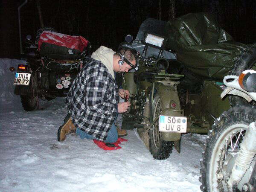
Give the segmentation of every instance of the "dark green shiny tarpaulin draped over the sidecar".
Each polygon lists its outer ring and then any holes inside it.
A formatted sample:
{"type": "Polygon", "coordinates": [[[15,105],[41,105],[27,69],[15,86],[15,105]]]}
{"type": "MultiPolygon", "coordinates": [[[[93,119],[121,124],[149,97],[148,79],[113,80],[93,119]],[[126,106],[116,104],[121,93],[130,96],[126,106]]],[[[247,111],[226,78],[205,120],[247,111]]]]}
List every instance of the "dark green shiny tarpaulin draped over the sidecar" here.
{"type": "Polygon", "coordinates": [[[167,22],[168,44],[192,73],[222,81],[235,59],[247,48],[224,31],[213,15],[190,13],[167,22]]]}

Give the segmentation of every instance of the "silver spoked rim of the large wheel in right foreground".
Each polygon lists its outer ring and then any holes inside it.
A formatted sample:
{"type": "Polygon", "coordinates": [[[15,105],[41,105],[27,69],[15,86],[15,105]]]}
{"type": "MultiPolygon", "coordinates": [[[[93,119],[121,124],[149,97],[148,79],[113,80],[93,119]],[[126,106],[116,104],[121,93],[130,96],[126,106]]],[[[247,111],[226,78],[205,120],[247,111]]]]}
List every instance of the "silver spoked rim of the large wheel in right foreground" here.
{"type": "MultiPolygon", "coordinates": [[[[212,151],[209,165],[209,186],[210,191],[228,191],[226,182],[233,169],[236,156],[240,150],[240,144],[248,125],[236,124],[228,127],[218,138],[212,151]]],[[[255,157],[249,169],[255,165],[255,157]]],[[[241,190],[243,183],[248,182],[250,171],[244,174],[238,184],[241,190]]]]}

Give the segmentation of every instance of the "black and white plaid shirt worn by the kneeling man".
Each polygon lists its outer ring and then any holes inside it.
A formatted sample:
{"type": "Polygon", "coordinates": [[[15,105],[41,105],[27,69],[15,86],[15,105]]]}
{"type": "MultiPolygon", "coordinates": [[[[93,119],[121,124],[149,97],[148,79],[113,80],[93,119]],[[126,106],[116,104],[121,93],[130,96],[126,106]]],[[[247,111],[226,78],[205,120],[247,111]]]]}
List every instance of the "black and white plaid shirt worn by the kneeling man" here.
{"type": "Polygon", "coordinates": [[[118,112],[118,87],[104,64],[88,62],[73,81],[66,102],[76,128],[106,140],[118,112]]]}

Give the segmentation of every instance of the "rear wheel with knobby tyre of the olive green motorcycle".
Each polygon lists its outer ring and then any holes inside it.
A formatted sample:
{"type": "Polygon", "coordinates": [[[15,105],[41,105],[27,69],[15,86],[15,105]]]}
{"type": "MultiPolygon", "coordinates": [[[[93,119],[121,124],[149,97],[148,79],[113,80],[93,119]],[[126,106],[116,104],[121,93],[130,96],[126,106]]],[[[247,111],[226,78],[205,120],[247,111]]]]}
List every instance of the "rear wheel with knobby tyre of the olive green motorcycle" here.
{"type": "MultiPolygon", "coordinates": [[[[153,119],[160,115],[161,109],[161,99],[157,94],[154,97],[154,108],[153,108],[153,119]]],[[[161,137],[161,132],[158,131],[159,121],[156,121],[153,125],[153,130],[149,131],[150,145],[149,150],[153,157],[157,160],[165,160],[172,153],[172,147],[174,143],[172,141],[164,141],[161,137]]]]}

